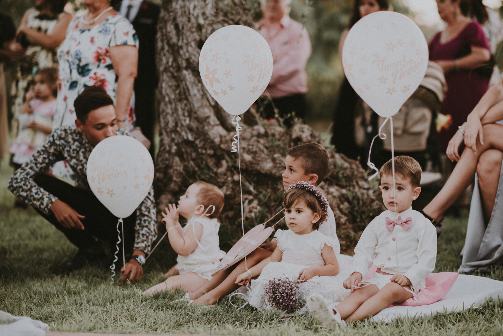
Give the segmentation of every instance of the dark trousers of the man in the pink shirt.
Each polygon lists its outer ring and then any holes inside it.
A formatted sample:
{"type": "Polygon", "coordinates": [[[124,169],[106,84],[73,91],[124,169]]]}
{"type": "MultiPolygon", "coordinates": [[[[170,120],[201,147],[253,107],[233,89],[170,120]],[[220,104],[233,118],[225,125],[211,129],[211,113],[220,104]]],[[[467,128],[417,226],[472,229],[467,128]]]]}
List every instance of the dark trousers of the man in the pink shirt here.
{"type": "Polygon", "coordinates": [[[307,109],[304,94],[295,94],[281,98],[273,98],[264,103],[262,117],[272,119],[276,117],[274,109],[278,110],[278,116],[283,119],[283,124],[292,126],[294,118],[304,119],[307,109]]]}

